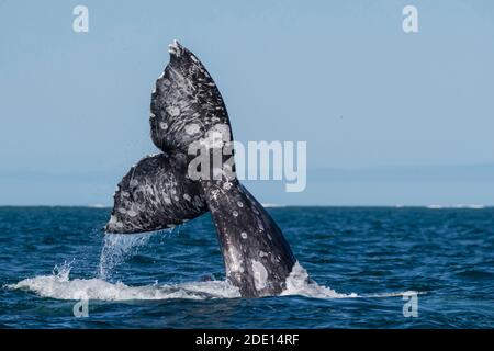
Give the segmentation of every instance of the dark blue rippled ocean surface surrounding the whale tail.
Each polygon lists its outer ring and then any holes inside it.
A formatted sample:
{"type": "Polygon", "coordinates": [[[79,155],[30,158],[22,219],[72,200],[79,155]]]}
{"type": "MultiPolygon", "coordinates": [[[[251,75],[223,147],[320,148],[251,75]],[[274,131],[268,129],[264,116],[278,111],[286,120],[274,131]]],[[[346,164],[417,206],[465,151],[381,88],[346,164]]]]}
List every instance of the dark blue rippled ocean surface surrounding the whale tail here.
{"type": "Polygon", "coordinates": [[[244,299],[209,214],[104,236],[109,208],[0,207],[0,327],[494,327],[494,208],[268,210],[300,265],[244,299]]]}

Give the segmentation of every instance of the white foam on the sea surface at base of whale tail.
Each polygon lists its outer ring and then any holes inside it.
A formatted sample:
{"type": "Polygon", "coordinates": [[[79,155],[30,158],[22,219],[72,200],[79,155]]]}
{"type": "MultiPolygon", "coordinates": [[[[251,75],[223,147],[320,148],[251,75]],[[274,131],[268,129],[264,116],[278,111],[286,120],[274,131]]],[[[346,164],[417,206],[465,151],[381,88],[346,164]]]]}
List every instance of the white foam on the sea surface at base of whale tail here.
{"type": "MultiPolygon", "coordinates": [[[[33,292],[41,297],[56,299],[97,299],[97,301],[154,301],[154,299],[212,299],[239,298],[236,286],[227,281],[189,282],[181,284],[150,284],[128,286],[122,282],[111,283],[100,278],[70,280],[70,264],[55,267],[50,275],[40,275],[5,285],[10,290],[33,292]]],[[[295,263],[289,278],[287,288],[281,296],[305,296],[311,298],[358,298],[393,297],[419,292],[393,292],[372,295],[356,293],[343,294],[319,285],[308,278],[307,271],[295,263]]]]}

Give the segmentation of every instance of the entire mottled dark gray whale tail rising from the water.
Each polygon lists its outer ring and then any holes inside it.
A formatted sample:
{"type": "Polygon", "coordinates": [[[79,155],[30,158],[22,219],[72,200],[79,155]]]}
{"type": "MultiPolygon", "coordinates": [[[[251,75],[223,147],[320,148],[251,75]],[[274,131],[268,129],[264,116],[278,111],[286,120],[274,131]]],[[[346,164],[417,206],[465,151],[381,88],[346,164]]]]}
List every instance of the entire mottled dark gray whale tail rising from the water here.
{"type": "Polygon", "coordinates": [[[222,152],[233,141],[225,104],[201,61],[177,42],[153,92],[150,127],[154,144],[165,154],[145,158],[124,177],[106,231],[162,229],[211,211],[226,276],[242,296],[281,293],[295,258],[268,212],[235,173],[224,171],[235,170],[222,152]],[[212,133],[220,133],[220,144],[210,143],[212,133]],[[211,169],[209,177],[190,179],[194,145],[220,155],[220,172],[211,169]]]}

